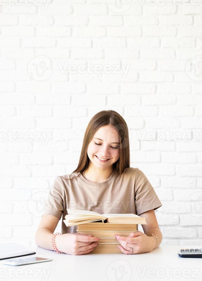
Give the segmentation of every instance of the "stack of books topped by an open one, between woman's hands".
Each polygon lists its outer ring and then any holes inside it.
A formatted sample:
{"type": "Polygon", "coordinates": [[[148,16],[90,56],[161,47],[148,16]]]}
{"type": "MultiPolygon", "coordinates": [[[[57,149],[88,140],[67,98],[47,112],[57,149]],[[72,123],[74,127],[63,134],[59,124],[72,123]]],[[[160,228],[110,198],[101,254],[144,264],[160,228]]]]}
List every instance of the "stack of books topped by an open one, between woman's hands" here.
{"type": "Polygon", "coordinates": [[[122,253],[115,234],[127,237],[137,231],[138,224],[146,224],[146,219],[136,214],[99,214],[87,210],[67,209],[65,225],[77,225],[77,233],[99,237],[99,243],[91,253],[122,253]]]}

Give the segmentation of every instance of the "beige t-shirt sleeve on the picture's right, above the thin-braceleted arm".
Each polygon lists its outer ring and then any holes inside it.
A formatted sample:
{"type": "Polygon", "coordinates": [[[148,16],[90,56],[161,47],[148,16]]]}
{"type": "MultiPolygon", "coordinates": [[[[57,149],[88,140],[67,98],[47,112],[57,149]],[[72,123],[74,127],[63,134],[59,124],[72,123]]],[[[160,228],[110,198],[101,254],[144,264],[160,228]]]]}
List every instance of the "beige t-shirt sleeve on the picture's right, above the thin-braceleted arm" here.
{"type": "Polygon", "coordinates": [[[134,192],[137,215],[162,206],[154,188],[140,169],[136,169],[134,192]]]}

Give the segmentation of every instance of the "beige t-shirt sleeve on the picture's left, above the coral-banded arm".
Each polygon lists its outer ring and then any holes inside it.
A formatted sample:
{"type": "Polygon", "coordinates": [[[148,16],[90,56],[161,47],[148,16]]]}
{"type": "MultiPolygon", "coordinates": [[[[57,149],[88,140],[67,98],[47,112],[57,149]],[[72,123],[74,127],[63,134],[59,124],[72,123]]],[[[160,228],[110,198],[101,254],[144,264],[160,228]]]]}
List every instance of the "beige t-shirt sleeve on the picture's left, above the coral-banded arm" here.
{"type": "Polygon", "coordinates": [[[64,211],[64,189],[60,177],[56,177],[54,183],[49,189],[48,197],[43,214],[48,214],[61,218],[64,211]]]}

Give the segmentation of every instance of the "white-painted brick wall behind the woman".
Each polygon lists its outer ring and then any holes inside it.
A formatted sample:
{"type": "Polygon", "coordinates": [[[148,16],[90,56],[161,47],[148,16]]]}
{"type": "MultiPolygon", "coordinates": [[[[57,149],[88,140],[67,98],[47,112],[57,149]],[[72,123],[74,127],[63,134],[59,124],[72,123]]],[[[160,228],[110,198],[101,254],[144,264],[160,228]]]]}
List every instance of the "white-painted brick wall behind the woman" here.
{"type": "Polygon", "coordinates": [[[35,245],[54,178],[77,167],[91,117],[113,109],[162,201],[162,243],[201,244],[202,8],[106,2],[0,7],[0,242],[35,245]]]}

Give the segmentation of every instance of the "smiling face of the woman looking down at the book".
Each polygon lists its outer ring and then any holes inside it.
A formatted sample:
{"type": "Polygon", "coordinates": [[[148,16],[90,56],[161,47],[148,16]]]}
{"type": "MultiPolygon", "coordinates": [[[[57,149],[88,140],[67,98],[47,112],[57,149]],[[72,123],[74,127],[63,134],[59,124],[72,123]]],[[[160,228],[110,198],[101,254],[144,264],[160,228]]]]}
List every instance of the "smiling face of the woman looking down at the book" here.
{"type": "Polygon", "coordinates": [[[120,156],[119,134],[117,130],[110,125],[100,127],[89,143],[87,154],[90,161],[97,168],[109,169],[120,156]],[[99,160],[98,157],[108,160],[99,160]]]}

